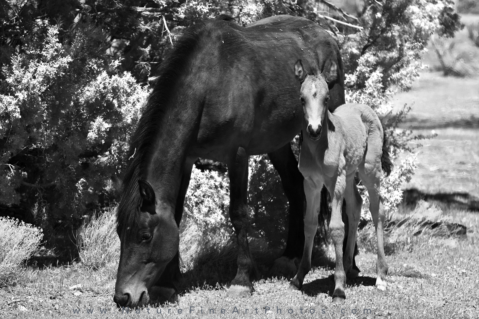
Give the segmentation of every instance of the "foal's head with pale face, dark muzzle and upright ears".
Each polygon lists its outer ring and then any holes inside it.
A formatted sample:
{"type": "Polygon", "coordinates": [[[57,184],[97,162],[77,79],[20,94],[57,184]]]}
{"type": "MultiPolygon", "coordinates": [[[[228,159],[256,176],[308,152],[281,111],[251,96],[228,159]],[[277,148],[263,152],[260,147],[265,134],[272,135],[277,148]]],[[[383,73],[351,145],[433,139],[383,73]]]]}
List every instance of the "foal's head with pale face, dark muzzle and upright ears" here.
{"type": "MultiPolygon", "coordinates": [[[[337,66],[328,61],[320,74],[309,73],[303,67],[301,60],[295,65],[296,77],[301,81],[301,103],[303,104],[308,136],[317,141],[321,136],[322,122],[328,110],[328,82],[336,79],[337,66]]],[[[319,73],[319,72],[317,72],[319,73]]]]}

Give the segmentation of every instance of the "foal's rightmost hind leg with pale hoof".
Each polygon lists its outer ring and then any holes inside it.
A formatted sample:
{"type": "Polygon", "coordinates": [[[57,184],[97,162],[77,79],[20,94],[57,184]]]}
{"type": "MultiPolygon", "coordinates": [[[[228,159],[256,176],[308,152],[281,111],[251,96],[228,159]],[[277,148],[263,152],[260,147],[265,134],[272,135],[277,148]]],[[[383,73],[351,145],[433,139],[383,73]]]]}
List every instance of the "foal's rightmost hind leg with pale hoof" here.
{"type": "Polygon", "coordinates": [[[381,196],[379,195],[381,165],[359,166],[359,177],[363,181],[369,194],[369,211],[376,228],[377,262],[376,262],[376,287],[385,290],[387,287],[388,263],[384,253],[384,219],[385,212],[381,196]],[[373,168],[374,167],[374,168],[373,168]]]}

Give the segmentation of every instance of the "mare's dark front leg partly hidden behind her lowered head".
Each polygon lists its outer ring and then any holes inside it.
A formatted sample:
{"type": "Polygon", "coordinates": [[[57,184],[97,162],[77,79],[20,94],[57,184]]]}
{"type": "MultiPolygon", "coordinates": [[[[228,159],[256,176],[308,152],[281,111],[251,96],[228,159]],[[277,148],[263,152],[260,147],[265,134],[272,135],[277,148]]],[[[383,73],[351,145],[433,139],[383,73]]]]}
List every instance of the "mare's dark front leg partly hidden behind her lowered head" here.
{"type": "MultiPolygon", "coordinates": [[[[186,191],[188,190],[188,185],[190,184],[191,171],[193,169],[193,164],[196,161],[195,158],[187,158],[183,167],[183,173],[180,183],[180,191],[178,197],[176,198],[175,206],[175,221],[178,227],[180,226],[180,221],[183,215],[183,205],[184,198],[186,196],[186,191]]],[[[158,281],[150,289],[151,295],[163,295],[170,302],[177,300],[177,291],[176,282],[180,279],[180,252],[177,252],[173,257],[170,263],[165,267],[165,270],[161,274],[158,281]]]]}

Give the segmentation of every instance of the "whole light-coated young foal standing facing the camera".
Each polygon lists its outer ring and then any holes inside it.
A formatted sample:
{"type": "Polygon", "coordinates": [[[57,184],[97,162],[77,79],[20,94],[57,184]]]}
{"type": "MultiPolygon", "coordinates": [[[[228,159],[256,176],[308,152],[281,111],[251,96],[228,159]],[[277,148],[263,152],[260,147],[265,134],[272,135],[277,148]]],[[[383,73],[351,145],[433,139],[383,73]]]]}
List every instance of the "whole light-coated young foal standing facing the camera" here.
{"type": "Polygon", "coordinates": [[[352,262],[362,199],[354,182],[356,170],[359,171],[359,177],[369,193],[369,210],[376,228],[376,286],[381,290],[386,289],[388,264],[383,246],[384,208],[379,196],[379,181],[382,174],[381,160],[386,167],[385,171],[390,172],[391,163],[388,154],[383,156],[383,128],[374,110],[364,104],[350,103],[331,113],[327,106],[328,70],[325,68],[320,75],[307,74],[300,60],[297,61],[295,69],[302,82],[301,101],[305,112],[303,132],[308,132],[305,134],[299,156],[299,171],[304,176],[307,209],[303,258],[291,286],[300,289],[305,275],[311,269],[311,250],[318,227],[320,190],[324,184],[332,198],[330,231],[336,251],[335,288],[332,297],[334,303],[342,303],[346,298],[346,274],[357,275],[352,272],[352,262]],[[341,218],[343,198],[346,201],[349,221],[344,258],[344,223],[341,218]]]}

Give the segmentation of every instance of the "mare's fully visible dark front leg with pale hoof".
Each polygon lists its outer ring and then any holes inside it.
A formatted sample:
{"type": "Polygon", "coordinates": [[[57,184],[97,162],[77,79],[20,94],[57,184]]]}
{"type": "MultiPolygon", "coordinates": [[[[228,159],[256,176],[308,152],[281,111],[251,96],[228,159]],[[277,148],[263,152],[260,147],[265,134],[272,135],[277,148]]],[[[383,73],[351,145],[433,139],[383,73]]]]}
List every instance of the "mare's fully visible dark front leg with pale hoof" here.
{"type": "Polygon", "coordinates": [[[229,218],[233,224],[238,243],[238,271],[228,290],[230,297],[246,297],[254,291],[251,276],[256,276],[256,268],[248,247],[247,230],[250,227],[248,216],[248,156],[244,148],[238,151],[227,163],[229,175],[229,218]]]}

